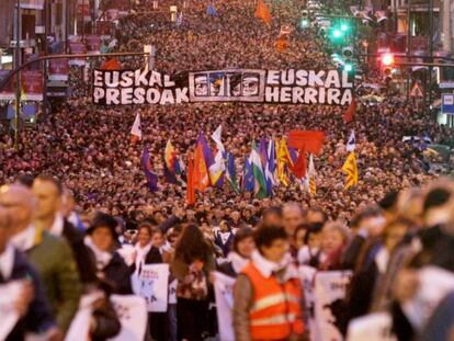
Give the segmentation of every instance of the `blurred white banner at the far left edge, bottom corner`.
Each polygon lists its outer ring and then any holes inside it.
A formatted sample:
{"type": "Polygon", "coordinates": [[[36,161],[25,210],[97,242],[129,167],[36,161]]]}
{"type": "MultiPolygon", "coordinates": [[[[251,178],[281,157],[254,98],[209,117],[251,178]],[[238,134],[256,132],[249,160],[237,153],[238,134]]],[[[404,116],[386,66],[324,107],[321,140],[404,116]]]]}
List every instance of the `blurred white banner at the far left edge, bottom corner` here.
{"type": "Polygon", "coordinates": [[[15,302],[22,293],[20,281],[0,285],[0,340],[7,339],[19,320],[15,302]]]}

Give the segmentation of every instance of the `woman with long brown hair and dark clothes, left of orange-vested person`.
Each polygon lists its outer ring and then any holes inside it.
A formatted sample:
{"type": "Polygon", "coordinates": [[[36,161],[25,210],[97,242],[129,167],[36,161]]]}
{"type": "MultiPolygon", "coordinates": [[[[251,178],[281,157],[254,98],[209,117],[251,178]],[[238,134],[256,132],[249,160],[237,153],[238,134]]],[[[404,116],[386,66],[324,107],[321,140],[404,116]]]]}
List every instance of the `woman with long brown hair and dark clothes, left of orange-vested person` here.
{"type": "Polygon", "coordinates": [[[203,340],[208,310],[208,275],[215,269],[213,248],[198,226],[188,224],[175,246],[171,270],[177,277],[178,340],[203,340]]]}

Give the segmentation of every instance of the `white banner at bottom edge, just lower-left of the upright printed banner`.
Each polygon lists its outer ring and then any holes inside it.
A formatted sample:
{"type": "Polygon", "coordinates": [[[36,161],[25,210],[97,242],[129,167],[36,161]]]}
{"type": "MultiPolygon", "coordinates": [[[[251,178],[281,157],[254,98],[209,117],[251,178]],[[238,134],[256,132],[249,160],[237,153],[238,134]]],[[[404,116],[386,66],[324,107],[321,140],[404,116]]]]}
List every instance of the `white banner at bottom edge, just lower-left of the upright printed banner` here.
{"type": "Polygon", "coordinates": [[[120,333],[112,341],[141,341],[147,331],[147,304],[143,297],[134,295],[112,295],[111,303],[122,323],[120,333]]]}

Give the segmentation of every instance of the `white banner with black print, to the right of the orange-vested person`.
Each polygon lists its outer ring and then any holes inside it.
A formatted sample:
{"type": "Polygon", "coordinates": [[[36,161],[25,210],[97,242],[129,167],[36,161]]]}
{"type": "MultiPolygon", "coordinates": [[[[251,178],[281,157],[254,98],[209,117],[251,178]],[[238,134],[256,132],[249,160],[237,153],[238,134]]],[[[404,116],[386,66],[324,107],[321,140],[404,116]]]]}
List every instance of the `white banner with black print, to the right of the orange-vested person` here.
{"type": "Polygon", "coordinates": [[[342,333],[337,327],[336,314],[344,314],[342,300],[352,277],[351,271],[322,271],[315,276],[315,329],[313,341],[341,341],[342,333]]]}

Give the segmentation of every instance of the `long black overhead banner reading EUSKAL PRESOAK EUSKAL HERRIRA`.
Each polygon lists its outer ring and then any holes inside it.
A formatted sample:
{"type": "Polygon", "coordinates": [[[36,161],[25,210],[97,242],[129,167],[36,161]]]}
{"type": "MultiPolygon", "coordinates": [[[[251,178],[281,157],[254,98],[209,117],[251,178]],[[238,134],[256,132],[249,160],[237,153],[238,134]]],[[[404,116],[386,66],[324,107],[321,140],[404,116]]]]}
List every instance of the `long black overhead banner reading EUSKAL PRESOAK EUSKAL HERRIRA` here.
{"type": "Polygon", "coordinates": [[[250,102],[347,105],[353,82],[341,70],[211,70],[174,76],[156,70],[94,70],[93,103],[250,102]]]}

